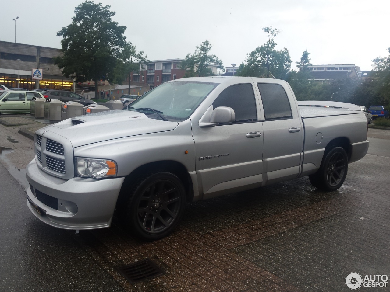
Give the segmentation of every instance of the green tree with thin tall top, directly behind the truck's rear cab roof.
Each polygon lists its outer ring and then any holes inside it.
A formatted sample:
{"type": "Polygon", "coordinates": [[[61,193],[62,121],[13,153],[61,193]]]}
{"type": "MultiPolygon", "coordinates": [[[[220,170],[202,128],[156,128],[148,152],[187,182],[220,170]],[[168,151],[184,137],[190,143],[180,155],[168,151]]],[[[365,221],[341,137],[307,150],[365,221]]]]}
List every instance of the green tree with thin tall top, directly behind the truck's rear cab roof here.
{"type": "Polygon", "coordinates": [[[287,79],[292,62],[289,51],[285,47],[280,51],[275,49],[277,44],[274,39],[280,30],[271,26],[262,30],[267,33],[268,41],[247,54],[246,64],[239,67],[237,75],[287,79]]]}

